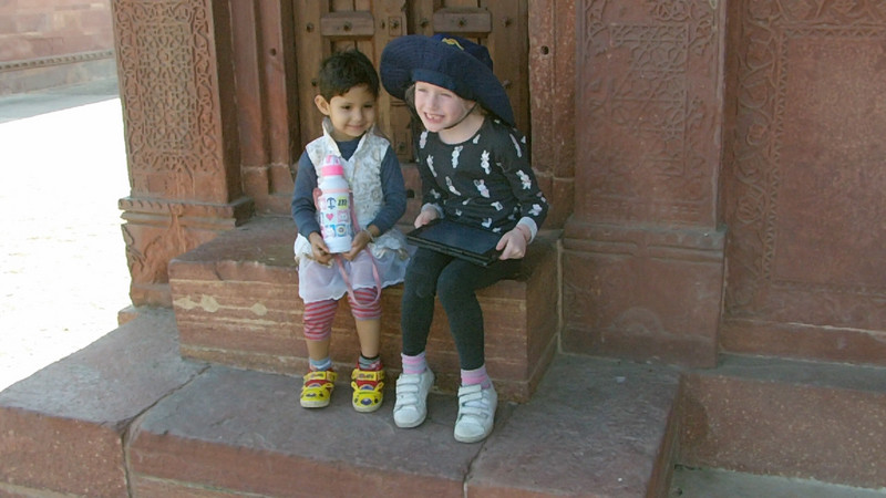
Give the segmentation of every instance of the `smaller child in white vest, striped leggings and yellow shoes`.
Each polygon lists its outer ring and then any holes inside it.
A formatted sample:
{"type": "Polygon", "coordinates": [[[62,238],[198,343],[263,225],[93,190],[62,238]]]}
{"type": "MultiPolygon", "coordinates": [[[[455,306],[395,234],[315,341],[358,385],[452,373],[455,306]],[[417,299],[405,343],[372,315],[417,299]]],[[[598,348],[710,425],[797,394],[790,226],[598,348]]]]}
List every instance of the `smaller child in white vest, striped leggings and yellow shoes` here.
{"type": "Polygon", "coordinates": [[[405,237],[394,228],[405,212],[405,186],[390,143],[374,133],[379,76],[370,60],[357,51],[336,53],[323,61],[318,84],[315,103],[326,116],[323,136],[308,144],[299,158],[292,195],[310,361],[300,404],[329,405],[337,376],[329,356],[332,319],[338,300],[348,293],[360,339],[360,357],[351,374],[352,404],[358,412],[374,412],[384,387],[379,293],[381,287],[403,281],[409,259],[405,237]],[[329,155],[340,157],[359,224],[350,250],[341,255],[331,253],[323,241],[315,206],[313,193],[329,155]]]}

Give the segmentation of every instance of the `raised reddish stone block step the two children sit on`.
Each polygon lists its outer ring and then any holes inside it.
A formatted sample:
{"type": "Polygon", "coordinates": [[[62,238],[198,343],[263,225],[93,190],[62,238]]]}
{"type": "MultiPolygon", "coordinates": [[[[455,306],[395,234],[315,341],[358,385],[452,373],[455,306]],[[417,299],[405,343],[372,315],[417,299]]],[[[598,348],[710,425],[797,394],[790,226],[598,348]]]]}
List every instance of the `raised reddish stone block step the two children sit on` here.
{"type": "MultiPolygon", "coordinates": [[[[301,300],[292,256],[296,228],[289,218],[248,224],[169,263],[169,287],[185,357],[276,373],[307,371],[301,300]]],[[[484,310],[486,365],[505,400],[532,395],[556,349],[558,330],[558,232],[543,231],[516,280],[477,293],[484,310]]],[[[382,361],[400,369],[401,286],[382,293],[382,361]]],[[[357,361],[359,344],[347,300],[333,323],[331,356],[339,370],[357,361]]],[[[457,388],[459,357],[449,322],[437,305],[427,347],[441,365],[441,388],[457,388]]]]}

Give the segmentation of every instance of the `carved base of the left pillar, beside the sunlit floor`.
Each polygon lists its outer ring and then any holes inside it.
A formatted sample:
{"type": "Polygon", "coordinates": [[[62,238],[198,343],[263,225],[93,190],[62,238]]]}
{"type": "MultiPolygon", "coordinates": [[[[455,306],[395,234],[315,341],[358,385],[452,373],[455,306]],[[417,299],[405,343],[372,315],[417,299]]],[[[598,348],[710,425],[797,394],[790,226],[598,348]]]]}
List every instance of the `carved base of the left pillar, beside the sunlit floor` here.
{"type": "Polygon", "coordinates": [[[123,238],[135,307],[172,307],[169,260],[249,219],[255,206],[241,197],[228,204],[195,204],[125,197],[123,238]]]}

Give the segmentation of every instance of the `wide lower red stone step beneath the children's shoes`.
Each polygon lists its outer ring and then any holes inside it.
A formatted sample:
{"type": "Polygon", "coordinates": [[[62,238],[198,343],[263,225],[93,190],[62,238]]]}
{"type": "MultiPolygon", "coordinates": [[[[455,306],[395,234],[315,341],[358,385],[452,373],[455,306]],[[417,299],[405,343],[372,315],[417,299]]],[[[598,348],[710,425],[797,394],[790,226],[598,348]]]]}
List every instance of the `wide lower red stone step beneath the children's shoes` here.
{"type": "MultiPolygon", "coordinates": [[[[453,439],[455,397],[393,425],[339,385],[182,360],[169,310],[143,311],[0,393],[0,494],[44,496],[664,496],[674,369],[557,355],[535,396],[499,404],[485,442],[453,439]]],[[[432,367],[435,365],[432,363],[432,367]]]]}

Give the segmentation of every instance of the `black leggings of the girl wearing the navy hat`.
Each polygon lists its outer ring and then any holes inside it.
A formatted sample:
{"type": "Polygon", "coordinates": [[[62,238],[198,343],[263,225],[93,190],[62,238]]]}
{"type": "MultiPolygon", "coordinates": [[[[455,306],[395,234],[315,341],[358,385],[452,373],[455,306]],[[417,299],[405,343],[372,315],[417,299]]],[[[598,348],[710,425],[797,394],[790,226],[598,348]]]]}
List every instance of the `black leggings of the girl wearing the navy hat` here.
{"type": "Polygon", "coordinates": [[[476,290],[516,277],[519,261],[496,261],[484,268],[430,249],[419,249],[409,263],[403,283],[400,319],[403,354],[415,356],[425,350],[434,317],[434,295],[437,295],[450,321],[461,367],[483,366],[483,310],[476,290]]]}

